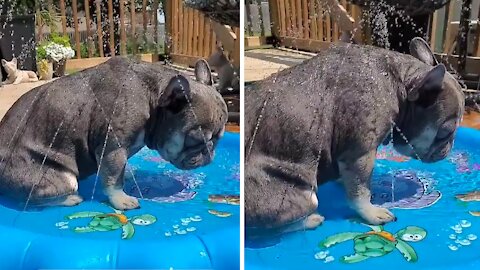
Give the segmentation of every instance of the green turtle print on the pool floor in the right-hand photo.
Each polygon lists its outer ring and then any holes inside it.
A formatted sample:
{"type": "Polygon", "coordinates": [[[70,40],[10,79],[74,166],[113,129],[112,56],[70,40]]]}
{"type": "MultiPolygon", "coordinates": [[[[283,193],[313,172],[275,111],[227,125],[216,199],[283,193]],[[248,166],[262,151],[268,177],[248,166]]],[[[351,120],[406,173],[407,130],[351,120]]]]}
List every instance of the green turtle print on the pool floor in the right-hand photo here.
{"type": "MultiPolygon", "coordinates": [[[[369,225],[367,225],[369,226],[369,225]]],[[[408,226],[395,234],[383,230],[383,226],[369,226],[369,232],[345,232],[327,237],[319,243],[321,248],[329,248],[338,243],[353,240],[353,255],[343,256],[340,261],[356,263],[368,258],[381,257],[397,249],[407,262],[418,261],[415,250],[408,242],[418,242],[427,236],[425,229],[408,226]]]]}

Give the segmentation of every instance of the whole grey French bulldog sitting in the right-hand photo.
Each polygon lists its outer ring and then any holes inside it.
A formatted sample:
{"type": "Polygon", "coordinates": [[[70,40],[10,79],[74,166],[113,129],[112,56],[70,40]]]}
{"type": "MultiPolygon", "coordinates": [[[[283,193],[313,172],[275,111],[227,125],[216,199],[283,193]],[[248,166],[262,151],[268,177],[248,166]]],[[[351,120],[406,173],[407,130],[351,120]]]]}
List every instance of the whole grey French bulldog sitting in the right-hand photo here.
{"type": "Polygon", "coordinates": [[[247,234],[316,228],[317,187],[330,180],[364,221],[396,220],[370,202],[377,147],[393,136],[401,154],[444,159],[464,111],[459,83],[427,43],[415,38],[410,51],[333,45],[246,89],[247,234]]]}

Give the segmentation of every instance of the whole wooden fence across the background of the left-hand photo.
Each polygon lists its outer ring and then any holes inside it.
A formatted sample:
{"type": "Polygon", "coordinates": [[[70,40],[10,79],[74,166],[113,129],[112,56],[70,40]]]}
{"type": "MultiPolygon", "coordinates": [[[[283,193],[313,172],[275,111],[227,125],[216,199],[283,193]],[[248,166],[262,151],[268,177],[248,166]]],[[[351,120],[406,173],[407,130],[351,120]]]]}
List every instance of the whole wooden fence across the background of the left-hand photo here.
{"type": "MultiPolygon", "coordinates": [[[[52,32],[70,36],[77,59],[165,53],[177,64],[192,66],[214,52],[219,39],[215,27],[182,0],[39,0],[36,31],[37,41],[52,32]]],[[[229,51],[236,66],[239,34],[233,29],[233,44],[232,38],[220,38],[224,47],[236,49],[229,51]]]]}

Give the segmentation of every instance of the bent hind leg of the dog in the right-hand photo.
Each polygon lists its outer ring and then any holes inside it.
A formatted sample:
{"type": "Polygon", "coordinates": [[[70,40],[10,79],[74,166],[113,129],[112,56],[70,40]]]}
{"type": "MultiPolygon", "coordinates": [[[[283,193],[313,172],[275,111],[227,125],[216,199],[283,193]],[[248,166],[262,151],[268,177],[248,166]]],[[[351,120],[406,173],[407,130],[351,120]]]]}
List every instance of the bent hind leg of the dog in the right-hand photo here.
{"type": "Polygon", "coordinates": [[[255,164],[246,172],[246,226],[271,228],[277,232],[318,227],[323,217],[316,212],[316,188],[288,182],[287,171],[267,173],[262,165],[255,164]]]}

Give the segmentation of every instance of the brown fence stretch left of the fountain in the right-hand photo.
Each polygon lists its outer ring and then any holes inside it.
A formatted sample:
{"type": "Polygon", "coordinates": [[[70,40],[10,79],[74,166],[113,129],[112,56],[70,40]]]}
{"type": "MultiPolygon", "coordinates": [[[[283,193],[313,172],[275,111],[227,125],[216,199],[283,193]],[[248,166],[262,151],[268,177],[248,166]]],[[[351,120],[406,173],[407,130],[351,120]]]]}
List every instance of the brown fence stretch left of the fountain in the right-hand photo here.
{"type": "MultiPolygon", "coordinates": [[[[252,30],[253,25],[259,24],[258,20],[261,21],[260,35],[267,33],[264,30],[264,20],[267,18],[265,10],[261,8],[264,4],[265,1],[247,3],[247,36],[259,35],[258,31],[252,30]]],[[[340,30],[353,34],[356,41],[362,38],[362,28],[357,23],[360,21],[361,9],[348,4],[346,0],[269,0],[268,4],[268,19],[271,21],[268,32],[281,46],[318,51],[327,48],[331,42],[338,41],[340,30]]]]}

